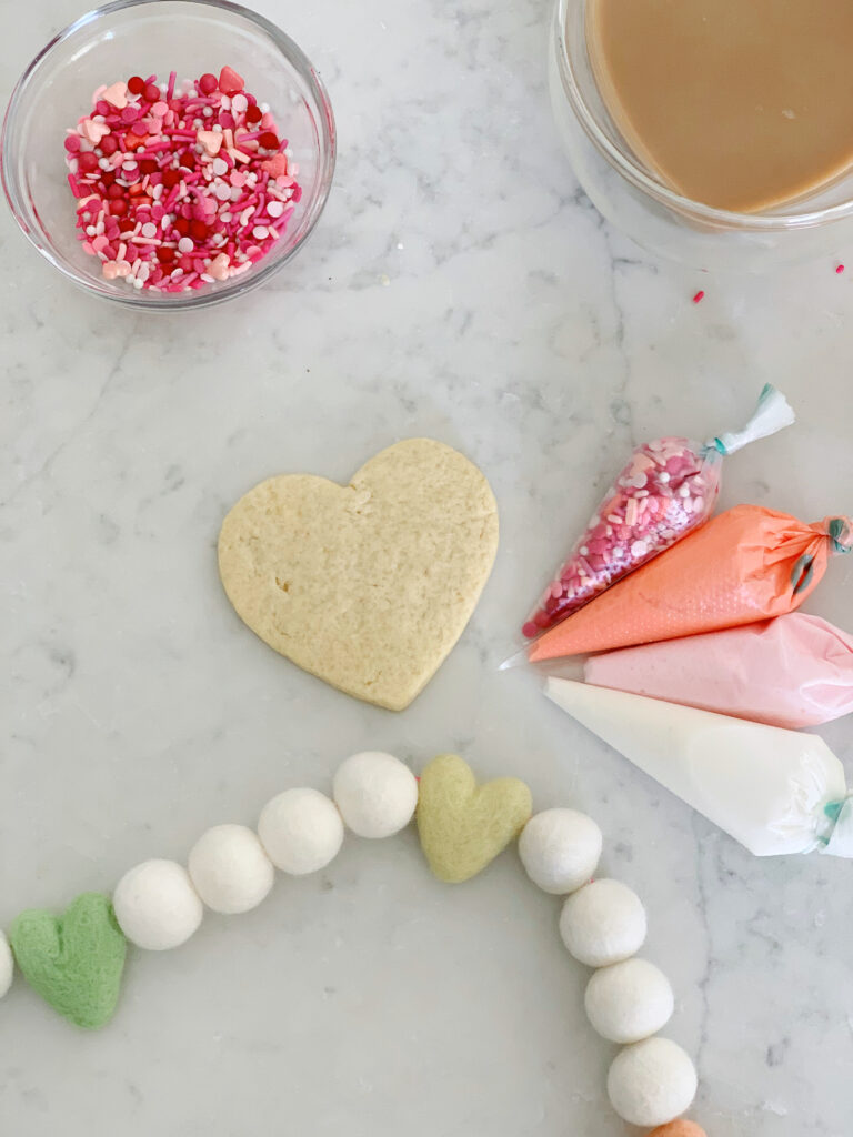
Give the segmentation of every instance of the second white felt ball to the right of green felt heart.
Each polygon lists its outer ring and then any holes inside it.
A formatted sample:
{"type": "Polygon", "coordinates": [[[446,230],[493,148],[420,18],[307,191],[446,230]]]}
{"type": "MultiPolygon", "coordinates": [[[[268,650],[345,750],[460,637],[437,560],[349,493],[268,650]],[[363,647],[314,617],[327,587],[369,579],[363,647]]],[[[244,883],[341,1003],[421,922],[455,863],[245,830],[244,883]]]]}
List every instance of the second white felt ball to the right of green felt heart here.
{"type": "Polygon", "coordinates": [[[214,912],[235,915],[260,904],[275,870],[246,825],[214,825],[196,841],[188,861],[196,891],[214,912]]]}

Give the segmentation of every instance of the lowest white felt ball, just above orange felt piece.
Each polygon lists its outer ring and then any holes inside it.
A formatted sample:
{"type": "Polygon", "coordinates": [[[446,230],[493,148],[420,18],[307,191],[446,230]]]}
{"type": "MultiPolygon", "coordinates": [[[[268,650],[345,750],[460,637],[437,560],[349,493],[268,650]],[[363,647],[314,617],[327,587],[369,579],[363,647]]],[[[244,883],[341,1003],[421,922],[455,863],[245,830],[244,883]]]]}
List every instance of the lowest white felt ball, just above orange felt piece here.
{"type": "Polygon", "coordinates": [[[696,1096],[689,1054],[669,1038],[646,1038],[621,1051],[607,1074],[611,1105],[632,1126],[664,1126],[696,1096]]]}

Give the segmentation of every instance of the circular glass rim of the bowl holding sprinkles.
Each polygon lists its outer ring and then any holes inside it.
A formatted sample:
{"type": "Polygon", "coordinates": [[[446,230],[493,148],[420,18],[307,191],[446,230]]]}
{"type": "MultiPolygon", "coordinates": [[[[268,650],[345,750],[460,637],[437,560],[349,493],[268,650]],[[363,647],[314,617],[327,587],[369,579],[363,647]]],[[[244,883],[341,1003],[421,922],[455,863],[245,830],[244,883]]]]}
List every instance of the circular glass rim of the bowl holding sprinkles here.
{"type": "Polygon", "coordinates": [[[66,27],[57,32],[56,35],[51,36],[44,47],[42,47],[33,56],[20,74],[18,81],[15,83],[3,115],[2,128],[0,128],[0,181],[2,181],[3,192],[13,217],[30,244],[32,244],[33,248],[36,249],[38,252],[40,252],[41,256],[44,257],[44,259],[48,260],[56,269],[58,269],[58,272],[60,272],[66,280],[71,281],[77,288],[83,289],[85,292],[115,304],[125,305],[127,307],[144,309],[147,312],[164,313],[223,304],[226,300],[234,299],[238,296],[243,296],[245,293],[252,291],[275,275],[275,273],[278,273],[297,252],[299,252],[314,232],[329,200],[338,157],[337,128],[329,92],[326,91],[325,84],[317,74],[314,65],[299,44],[276,24],[267,19],[265,16],[262,16],[260,13],[252,11],[250,8],[243,7],[243,5],[234,3],[233,0],[181,0],[181,3],[193,5],[198,8],[212,8],[217,11],[224,11],[230,16],[245,19],[249,24],[259,28],[270,40],[272,40],[281,55],[300,74],[300,77],[310,88],[312,97],[320,111],[320,114],[316,115],[316,127],[320,136],[320,163],[317,179],[318,184],[321,185],[321,191],[314,208],[314,214],[310,217],[305,231],[299,236],[297,243],[287,252],[275,257],[274,259],[270,258],[266,264],[262,260],[258,263],[258,266],[254,272],[232,279],[232,281],[223,287],[210,289],[207,292],[176,292],[148,296],[146,289],[140,289],[139,291],[132,290],[127,293],[123,293],[117,289],[101,287],[100,282],[97,280],[83,276],[73,266],[66,265],[63,258],[55,255],[50,241],[43,240],[40,232],[33,232],[31,227],[25,224],[24,217],[26,214],[26,207],[20,204],[23,197],[20,192],[22,186],[19,185],[17,176],[10,174],[9,163],[7,161],[10,123],[14,121],[19,110],[27,85],[35,72],[42,66],[42,64],[44,64],[51,52],[53,52],[60,44],[65,43],[66,40],[72,39],[89,25],[96,25],[99,20],[103,20],[105,18],[111,17],[117,13],[125,11],[126,9],[144,8],[149,5],[166,5],[167,2],[168,0],[110,0],[109,3],[83,13],[66,27]]]}

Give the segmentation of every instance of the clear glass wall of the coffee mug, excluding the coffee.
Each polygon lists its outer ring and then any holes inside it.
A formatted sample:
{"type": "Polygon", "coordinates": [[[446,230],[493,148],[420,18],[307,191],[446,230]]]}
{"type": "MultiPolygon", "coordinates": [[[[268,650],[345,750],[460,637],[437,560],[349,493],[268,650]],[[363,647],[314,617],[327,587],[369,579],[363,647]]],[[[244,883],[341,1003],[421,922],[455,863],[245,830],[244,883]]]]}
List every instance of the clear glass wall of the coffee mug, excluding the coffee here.
{"type": "Polygon", "coordinates": [[[548,77],[557,128],[583,190],[638,244],[694,268],[765,272],[836,252],[853,234],[853,173],[761,213],[681,197],[633,153],[610,117],[587,51],[589,0],[557,0],[548,77]]]}

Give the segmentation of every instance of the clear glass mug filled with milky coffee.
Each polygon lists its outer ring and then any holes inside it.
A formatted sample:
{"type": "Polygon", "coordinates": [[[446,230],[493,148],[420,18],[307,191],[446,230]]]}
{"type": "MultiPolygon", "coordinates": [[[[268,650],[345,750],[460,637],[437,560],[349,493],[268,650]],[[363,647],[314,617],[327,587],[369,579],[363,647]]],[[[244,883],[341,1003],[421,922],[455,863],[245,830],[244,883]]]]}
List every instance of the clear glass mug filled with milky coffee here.
{"type": "Polygon", "coordinates": [[[852,52],[838,0],[557,0],[554,115],[638,244],[763,272],[853,235],[852,52]]]}

